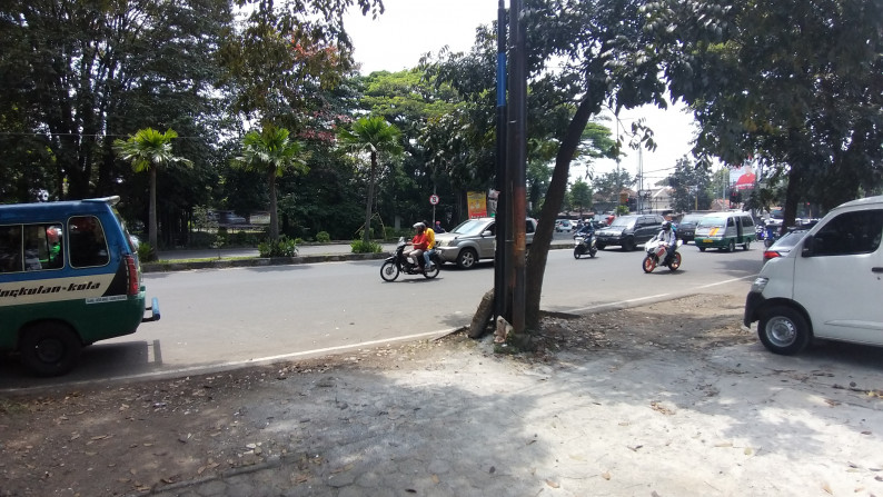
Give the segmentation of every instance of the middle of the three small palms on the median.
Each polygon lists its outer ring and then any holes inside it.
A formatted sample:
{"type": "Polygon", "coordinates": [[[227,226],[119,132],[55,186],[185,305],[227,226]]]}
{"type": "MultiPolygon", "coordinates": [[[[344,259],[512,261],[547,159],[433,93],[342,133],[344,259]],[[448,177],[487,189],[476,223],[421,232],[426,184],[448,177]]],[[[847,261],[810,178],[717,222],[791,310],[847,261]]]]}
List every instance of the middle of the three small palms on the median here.
{"type": "Polygon", "coordinates": [[[242,155],[232,160],[234,167],[266,175],[270,195],[270,239],[279,238],[279,215],[276,200],[276,178],[287,170],[306,173],[306,153],[299,141],[291,141],[288,130],[267,125],[260,131],[249,131],[242,138],[242,155]]]}

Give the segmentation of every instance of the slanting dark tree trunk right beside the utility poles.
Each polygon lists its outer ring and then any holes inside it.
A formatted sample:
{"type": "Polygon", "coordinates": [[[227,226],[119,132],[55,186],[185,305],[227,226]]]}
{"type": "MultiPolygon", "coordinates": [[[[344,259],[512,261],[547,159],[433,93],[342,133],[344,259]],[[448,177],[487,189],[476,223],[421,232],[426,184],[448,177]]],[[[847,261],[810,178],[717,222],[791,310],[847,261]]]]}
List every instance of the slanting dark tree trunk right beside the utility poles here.
{"type": "MultiPolygon", "coordinates": [[[[546,260],[548,249],[552,246],[553,231],[555,230],[555,218],[564,201],[567,191],[567,179],[571,171],[571,161],[574,158],[576,148],[588,123],[588,118],[593,112],[598,111],[598,103],[589,100],[592,91],[579,102],[567,131],[562,140],[558,155],[555,157],[555,170],[552,172],[552,181],[546,191],[546,201],[539,212],[537,229],[534,233],[534,242],[530,246],[530,257],[527,258],[525,289],[525,329],[539,329],[539,297],[543,294],[543,277],[546,272],[546,260]]],[[[604,95],[603,92],[599,95],[604,95]]]]}

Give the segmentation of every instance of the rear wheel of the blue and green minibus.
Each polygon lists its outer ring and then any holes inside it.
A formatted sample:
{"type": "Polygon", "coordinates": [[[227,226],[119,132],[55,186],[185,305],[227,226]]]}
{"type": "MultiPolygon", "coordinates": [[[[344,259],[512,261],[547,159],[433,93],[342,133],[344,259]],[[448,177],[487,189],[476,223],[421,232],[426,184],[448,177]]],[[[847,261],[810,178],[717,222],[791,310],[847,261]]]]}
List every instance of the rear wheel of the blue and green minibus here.
{"type": "Polygon", "coordinates": [[[70,371],[80,360],[81,351],[80,338],[61,322],[40,322],[21,332],[21,361],[38,376],[60,376],[70,371]]]}

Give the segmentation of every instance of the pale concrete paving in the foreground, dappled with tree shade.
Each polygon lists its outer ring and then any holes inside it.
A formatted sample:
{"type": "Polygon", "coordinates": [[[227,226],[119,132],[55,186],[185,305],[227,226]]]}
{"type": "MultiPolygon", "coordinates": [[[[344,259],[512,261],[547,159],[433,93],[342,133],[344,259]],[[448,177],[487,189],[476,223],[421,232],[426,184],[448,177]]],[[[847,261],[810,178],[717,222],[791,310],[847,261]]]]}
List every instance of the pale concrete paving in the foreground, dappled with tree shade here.
{"type": "Polygon", "coordinates": [[[874,349],[788,358],[744,334],[702,350],[641,340],[550,360],[460,336],[280,370],[237,399],[236,426],[254,434],[238,457],[255,465],[151,494],[883,494],[874,349]],[[377,366],[361,362],[373,355],[377,366]]]}

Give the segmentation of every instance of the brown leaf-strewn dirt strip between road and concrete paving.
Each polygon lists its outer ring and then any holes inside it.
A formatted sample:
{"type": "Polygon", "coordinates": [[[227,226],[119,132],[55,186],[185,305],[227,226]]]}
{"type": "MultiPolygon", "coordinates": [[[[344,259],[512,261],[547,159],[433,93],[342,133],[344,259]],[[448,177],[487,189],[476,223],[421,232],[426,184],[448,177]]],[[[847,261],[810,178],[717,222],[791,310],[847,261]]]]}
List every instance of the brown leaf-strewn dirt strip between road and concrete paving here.
{"type": "Polygon", "coordinates": [[[137,495],[294,451],[302,439],[259,437],[260,417],[248,411],[270,385],[320,384],[329,371],[425,370],[465,355],[547,368],[564,356],[591,361],[599,351],[629,360],[755,342],[740,326],[743,302],[740,291],[547,316],[538,350],[529,355],[495,355],[492,337],[473,340],[459,332],[272,367],[2,395],[0,496],[137,495]]]}

